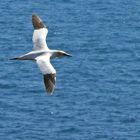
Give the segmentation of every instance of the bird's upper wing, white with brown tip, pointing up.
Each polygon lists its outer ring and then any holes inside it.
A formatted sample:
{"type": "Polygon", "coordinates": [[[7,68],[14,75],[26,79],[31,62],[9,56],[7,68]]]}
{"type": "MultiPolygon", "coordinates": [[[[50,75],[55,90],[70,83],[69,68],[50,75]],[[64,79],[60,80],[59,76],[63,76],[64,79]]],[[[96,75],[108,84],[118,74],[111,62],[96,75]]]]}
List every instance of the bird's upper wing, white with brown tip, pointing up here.
{"type": "Polygon", "coordinates": [[[33,50],[49,50],[47,43],[46,43],[46,36],[48,34],[48,29],[46,25],[43,23],[41,18],[36,14],[32,15],[32,23],[34,27],[33,32],[33,50]]]}

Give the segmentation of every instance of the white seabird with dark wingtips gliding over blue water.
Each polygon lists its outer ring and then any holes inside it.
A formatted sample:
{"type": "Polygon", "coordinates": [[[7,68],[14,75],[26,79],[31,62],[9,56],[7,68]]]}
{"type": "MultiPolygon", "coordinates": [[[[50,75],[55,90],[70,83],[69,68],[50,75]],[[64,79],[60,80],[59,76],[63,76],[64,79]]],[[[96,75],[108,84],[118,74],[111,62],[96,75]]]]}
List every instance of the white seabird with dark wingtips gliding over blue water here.
{"type": "Polygon", "coordinates": [[[50,59],[55,57],[71,56],[61,50],[50,50],[46,44],[48,29],[36,14],[32,15],[33,32],[33,51],[22,56],[12,58],[11,60],[35,60],[43,76],[44,84],[48,95],[51,95],[56,83],[56,70],[50,63],[50,59]]]}

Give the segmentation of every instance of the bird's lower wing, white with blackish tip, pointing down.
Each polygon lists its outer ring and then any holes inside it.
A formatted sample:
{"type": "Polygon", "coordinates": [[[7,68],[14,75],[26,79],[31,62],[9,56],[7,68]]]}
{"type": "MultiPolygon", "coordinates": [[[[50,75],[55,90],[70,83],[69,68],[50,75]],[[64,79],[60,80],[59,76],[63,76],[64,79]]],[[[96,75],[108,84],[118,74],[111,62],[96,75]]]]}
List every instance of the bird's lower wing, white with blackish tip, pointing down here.
{"type": "Polygon", "coordinates": [[[49,55],[42,55],[36,58],[36,62],[44,76],[44,84],[48,95],[51,95],[56,82],[56,70],[50,63],[49,55]]]}

